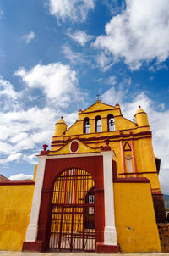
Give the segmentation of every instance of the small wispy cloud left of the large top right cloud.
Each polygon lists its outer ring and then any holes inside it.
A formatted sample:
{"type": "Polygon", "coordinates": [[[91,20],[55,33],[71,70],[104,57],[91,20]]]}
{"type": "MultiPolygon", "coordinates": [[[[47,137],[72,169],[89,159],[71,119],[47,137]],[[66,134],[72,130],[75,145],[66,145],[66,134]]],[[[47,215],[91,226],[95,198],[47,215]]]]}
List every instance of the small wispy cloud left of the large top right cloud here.
{"type": "Polygon", "coordinates": [[[93,36],[87,35],[85,31],[75,31],[74,33],[68,31],[67,35],[75,42],[78,42],[82,47],[93,38],[93,36]]]}

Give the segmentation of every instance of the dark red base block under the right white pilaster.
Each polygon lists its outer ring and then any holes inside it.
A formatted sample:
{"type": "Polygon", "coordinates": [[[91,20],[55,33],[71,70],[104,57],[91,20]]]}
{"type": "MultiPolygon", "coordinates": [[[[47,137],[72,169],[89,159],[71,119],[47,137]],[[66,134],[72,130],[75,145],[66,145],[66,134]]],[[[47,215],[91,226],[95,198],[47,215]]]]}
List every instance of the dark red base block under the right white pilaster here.
{"type": "Polygon", "coordinates": [[[108,245],[104,242],[97,242],[95,253],[120,253],[120,246],[108,245]]]}

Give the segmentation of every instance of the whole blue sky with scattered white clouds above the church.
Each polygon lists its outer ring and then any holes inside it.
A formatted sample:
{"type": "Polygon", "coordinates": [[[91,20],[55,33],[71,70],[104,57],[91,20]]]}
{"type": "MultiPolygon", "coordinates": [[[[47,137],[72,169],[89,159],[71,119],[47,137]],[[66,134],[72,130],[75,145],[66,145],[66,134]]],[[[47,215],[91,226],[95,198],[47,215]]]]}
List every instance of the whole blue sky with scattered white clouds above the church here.
{"type": "Polygon", "coordinates": [[[73,124],[100,94],[148,113],[169,194],[167,0],[1,0],[0,35],[2,175],[30,177],[60,116],[73,124]]]}

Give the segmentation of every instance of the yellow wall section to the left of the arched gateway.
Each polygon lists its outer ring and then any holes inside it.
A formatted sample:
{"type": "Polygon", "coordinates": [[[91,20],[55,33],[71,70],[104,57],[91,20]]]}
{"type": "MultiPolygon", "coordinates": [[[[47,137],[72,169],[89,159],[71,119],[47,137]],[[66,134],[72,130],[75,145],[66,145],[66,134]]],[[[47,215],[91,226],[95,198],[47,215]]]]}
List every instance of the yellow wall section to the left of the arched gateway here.
{"type": "Polygon", "coordinates": [[[21,251],[30,220],[34,185],[0,186],[0,249],[21,251]]]}

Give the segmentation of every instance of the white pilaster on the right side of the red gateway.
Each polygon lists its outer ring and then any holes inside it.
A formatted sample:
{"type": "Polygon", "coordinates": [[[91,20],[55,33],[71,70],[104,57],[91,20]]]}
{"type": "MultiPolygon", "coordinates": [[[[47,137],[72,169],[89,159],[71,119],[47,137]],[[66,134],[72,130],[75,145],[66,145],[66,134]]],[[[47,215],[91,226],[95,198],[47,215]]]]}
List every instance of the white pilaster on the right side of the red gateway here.
{"type": "Polygon", "coordinates": [[[105,199],[105,231],[104,243],[117,245],[117,231],[114,215],[114,193],[112,174],[112,153],[103,153],[104,199],[105,199]]]}

